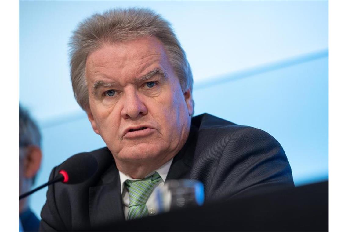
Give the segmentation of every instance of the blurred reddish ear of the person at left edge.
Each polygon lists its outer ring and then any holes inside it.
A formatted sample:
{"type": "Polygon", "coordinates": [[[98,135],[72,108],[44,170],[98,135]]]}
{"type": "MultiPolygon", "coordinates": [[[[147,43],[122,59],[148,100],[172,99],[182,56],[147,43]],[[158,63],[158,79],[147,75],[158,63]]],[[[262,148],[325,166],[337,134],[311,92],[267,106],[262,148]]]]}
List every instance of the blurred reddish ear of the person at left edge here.
{"type": "Polygon", "coordinates": [[[24,176],[28,179],[33,178],[38,172],[41,164],[42,152],[39,146],[29,145],[26,147],[24,161],[24,176]]]}

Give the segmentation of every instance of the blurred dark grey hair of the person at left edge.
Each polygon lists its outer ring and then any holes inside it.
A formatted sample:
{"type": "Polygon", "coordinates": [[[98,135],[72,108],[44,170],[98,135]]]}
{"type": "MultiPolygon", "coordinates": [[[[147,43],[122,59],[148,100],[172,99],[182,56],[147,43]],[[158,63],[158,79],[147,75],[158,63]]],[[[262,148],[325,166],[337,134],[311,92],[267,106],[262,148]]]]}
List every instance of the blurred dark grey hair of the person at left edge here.
{"type": "Polygon", "coordinates": [[[30,117],[29,112],[19,105],[19,147],[41,146],[39,127],[30,117]]]}

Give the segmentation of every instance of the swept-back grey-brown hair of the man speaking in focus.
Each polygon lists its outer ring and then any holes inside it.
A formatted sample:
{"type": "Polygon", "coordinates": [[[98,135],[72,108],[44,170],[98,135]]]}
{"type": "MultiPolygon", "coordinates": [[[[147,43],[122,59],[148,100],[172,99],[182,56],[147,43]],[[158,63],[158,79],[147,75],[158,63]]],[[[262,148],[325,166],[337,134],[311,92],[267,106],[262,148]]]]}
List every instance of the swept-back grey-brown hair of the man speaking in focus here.
{"type": "Polygon", "coordinates": [[[163,43],[183,93],[188,89],[192,93],[191,67],[171,24],[150,9],[112,9],[85,19],[70,39],[71,83],[76,101],[83,110],[89,107],[85,76],[88,53],[100,48],[103,43],[145,36],[156,37],[163,43]]]}

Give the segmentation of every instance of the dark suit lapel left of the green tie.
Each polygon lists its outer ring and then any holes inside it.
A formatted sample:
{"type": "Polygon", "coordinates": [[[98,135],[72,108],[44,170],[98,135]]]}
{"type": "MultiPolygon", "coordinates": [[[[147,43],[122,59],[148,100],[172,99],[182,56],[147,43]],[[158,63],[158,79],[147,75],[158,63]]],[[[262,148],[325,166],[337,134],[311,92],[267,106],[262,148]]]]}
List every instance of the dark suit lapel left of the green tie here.
{"type": "Polygon", "coordinates": [[[101,185],[89,188],[90,224],[98,230],[116,230],[117,223],[125,221],[117,168],[111,165],[101,181],[101,185]]]}

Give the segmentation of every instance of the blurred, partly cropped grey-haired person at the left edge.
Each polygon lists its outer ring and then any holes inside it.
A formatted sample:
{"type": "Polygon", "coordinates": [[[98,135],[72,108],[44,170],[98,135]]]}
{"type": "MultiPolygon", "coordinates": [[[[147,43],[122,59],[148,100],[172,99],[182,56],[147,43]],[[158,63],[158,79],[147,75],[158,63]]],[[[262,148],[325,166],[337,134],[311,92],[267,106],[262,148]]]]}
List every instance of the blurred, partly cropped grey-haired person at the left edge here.
{"type": "MultiPolygon", "coordinates": [[[[41,163],[41,135],[29,113],[19,105],[19,195],[30,191],[41,163]]],[[[38,231],[39,219],[29,208],[28,198],[19,201],[19,225],[23,231],[38,231]]]]}

